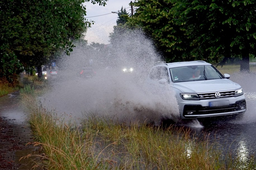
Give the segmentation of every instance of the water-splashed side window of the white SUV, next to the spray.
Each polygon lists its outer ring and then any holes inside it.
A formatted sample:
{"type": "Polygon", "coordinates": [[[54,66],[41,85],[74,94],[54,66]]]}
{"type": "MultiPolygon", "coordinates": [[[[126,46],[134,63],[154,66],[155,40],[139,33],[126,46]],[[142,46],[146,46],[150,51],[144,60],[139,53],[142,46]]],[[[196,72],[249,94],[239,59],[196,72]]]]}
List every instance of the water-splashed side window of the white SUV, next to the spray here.
{"type": "Polygon", "coordinates": [[[154,67],[150,74],[149,74],[149,78],[151,80],[161,80],[163,78],[165,78],[166,80],[169,81],[169,74],[168,74],[168,69],[166,67],[154,67]]]}

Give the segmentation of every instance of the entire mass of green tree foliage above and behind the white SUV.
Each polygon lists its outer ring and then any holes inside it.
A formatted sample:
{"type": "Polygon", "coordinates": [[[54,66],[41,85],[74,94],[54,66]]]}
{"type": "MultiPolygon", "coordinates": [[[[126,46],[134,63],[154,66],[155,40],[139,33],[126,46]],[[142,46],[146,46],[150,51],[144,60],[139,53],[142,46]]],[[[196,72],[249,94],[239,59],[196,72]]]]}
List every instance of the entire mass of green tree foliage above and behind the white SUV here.
{"type": "Polygon", "coordinates": [[[147,32],[167,61],[241,58],[241,71],[249,70],[249,54],[255,55],[255,1],[137,0],[134,6],[129,22],[147,32]]]}

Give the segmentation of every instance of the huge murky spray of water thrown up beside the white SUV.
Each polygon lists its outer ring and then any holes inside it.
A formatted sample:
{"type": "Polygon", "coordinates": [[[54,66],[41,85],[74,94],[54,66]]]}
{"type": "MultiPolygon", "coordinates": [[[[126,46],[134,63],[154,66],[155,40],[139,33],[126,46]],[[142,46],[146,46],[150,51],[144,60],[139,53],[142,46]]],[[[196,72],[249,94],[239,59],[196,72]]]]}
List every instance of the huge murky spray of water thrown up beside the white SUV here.
{"type": "Polygon", "coordinates": [[[103,49],[76,44],[69,57],[58,61],[58,75],[49,77],[47,107],[81,118],[83,113],[108,115],[122,122],[159,124],[179,121],[179,106],[171,90],[149,89],[150,68],[162,62],[151,40],[139,31],[126,31],[103,49]],[[123,72],[132,67],[132,72],[123,72]],[[92,68],[91,77],[81,69],[92,68]]]}

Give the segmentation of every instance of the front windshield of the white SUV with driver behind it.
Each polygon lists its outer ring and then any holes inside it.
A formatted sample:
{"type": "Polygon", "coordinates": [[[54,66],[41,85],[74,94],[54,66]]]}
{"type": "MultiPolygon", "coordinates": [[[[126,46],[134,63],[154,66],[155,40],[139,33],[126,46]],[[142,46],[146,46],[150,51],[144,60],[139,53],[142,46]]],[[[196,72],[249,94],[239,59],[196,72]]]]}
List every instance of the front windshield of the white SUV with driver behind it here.
{"type": "Polygon", "coordinates": [[[175,67],[170,68],[170,73],[175,83],[224,78],[212,65],[175,67]]]}

